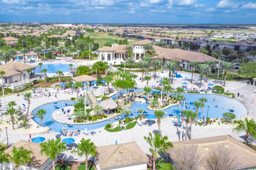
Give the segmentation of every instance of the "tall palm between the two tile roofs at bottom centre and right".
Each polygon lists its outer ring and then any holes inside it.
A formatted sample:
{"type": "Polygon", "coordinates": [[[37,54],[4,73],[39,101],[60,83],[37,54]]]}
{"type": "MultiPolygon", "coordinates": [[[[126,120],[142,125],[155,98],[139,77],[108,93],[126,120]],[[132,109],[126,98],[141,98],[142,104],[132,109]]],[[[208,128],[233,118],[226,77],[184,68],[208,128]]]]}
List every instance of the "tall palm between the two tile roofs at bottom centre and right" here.
{"type": "Polygon", "coordinates": [[[148,135],[149,135],[148,137],[144,136],[144,139],[150,145],[149,152],[153,156],[153,170],[155,170],[157,153],[166,154],[165,150],[172,148],[173,145],[172,145],[172,142],[168,141],[167,136],[161,137],[160,134],[157,135],[156,133],[154,133],[155,137],[152,137],[151,133],[149,133],[148,135]]]}

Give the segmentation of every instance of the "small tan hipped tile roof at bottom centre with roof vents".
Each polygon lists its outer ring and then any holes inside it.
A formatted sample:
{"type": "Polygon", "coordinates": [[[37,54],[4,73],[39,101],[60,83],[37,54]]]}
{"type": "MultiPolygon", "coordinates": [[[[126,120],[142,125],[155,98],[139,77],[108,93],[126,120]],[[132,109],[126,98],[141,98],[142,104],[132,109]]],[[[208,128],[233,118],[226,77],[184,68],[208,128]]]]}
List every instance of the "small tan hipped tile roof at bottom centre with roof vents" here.
{"type": "Polygon", "coordinates": [[[96,160],[100,169],[149,161],[148,156],[140,149],[136,142],[99,146],[97,148],[96,160]]]}

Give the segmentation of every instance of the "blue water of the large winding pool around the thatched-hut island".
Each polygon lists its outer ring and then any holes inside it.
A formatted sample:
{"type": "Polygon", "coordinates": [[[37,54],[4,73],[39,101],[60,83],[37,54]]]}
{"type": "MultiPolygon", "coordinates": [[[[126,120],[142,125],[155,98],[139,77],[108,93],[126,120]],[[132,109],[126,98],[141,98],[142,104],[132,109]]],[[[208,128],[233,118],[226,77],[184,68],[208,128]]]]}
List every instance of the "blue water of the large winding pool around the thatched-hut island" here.
{"type": "MultiPolygon", "coordinates": [[[[141,89],[135,89],[135,91],[140,91],[141,89]]],[[[126,90],[121,91],[121,93],[126,93],[126,90]]],[[[186,98],[186,102],[190,103],[190,102],[194,102],[194,101],[198,101],[199,98],[206,98],[207,102],[204,103],[204,118],[206,119],[206,115],[207,115],[207,106],[209,106],[209,111],[208,111],[208,117],[210,118],[221,118],[222,114],[225,112],[228,112],[228,108],[231,107],[231,109],[233,107],[235,107],[235,111],[234,114],[236,115],[236,118],[239,118],[239,116],[242,116],[243,114],[246,113],[246,109],[245,107],[238,102],[237,100],[228,98],[226,96],[221,96],[221,95],[216,95],[216,94],[182,94],[184,95],[184,97],[186,98]],[[213,98],[216,97],[216,101],[213,102],[213,98]],[[215,107],[216,105],[218,105],[218,107],[215,107]]],[[[116,97],[116,94],[113,95],[112,97],[116,97]]],[[[74,103],[74,101],[69,101],[71,104],[74,103]]],[[[100,103],[100,101],[99,101],[100,103]]],[[[102,122],[96,122],[96,123],[91,123],[91,124],[80,124],[80,125],[74,125],[73,127],[68,127],[67,124],[64,123],[60,123],[60,122],[56,122],[52,119],[52,112],[54,112],[55,107],[54,105],[58,105],[59,107],[66,107],[64,101],[58,101],[57,104],[53,104],[53,103],[48,103],[45,105],[42,105],[40,107],[37,107],[35,110],[32,111],[33,114],[35,114],[37,112],[37,110],[39,109],[45,109],[47,110],[47,113],[44,115],[44,119],[43,122],[41,123],[42,126],[46,126],[49,127],[50,130],[52,131],[56,131],[59,132],[60,129],[63,128],[63,126],[66,127],[67,130],[75,130],[77,128],[84,130],[84,128],[87,128],[88,130],[91,129],[98,129],[101,127],[104,127],[106,124],[110,123],[110,120],[105,120],[102,122]]],[[[135,102],[132,104],[132,107],[130,108],[130,110],[132,110],[132,112],[134,110],[136,110],[136,108],[138,109],[143,109],[143,110],[147,110],[149,104],[148,103],[142,103],[142,102],[135,102]]],[[[193,105],[188,104],[188,106],[190,106],[190,108],[186,108],[186,110],[193,110],[194,112],[196,111],[196,109],[193,109],[193,105]]],[[[181,106],[181,110],[183,109],[183,105],[181,106]]],[[[163,110],[164,112],[166,111],[167,114],[164,115],[164,117],[167,117],[169,114],[174,113],[174,116],[178,116],[179,115],[179,106],[172,106],[169,107],[167,109],[163,110]]],[[[148,114],[154,115],[154,110],[149,110],[148,109],[148,114]]],[[[138,113],[133,113],[133,115],[130,115],[129,117],[135,117],[137,116],[138,113]]],[[[121,115],[119,115],[118,117],[121,117],[121,115]]],[[[66,117],[65,117],[66,118],[66,117]]],[[[202,115],[202,109],[199,108],[198,111],[198,119],[202,119],[203,115],[202,115]]],[[[68,118],[67,118],[68,119],[68,118]]],[[[33,120],[37,123],[40,123],[40,117],[34,117],[33,120]]],[[[114,122],[116,122],[116,120],[114,120],[114,122]]]]}

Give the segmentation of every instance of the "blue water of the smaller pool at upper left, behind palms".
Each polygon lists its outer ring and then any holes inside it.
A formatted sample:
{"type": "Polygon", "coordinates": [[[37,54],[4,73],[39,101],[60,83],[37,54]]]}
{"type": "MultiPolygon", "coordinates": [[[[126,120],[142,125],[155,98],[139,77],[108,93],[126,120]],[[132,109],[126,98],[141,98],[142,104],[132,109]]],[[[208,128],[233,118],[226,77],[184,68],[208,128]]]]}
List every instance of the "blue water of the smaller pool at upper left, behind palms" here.
{"type": "MultiPolygon", "coordinates": [[[[75,67],[75,65],[73,65],[73,68],[75,67]]],[[[42,69],[47,69],[47,73],[56,73],[56,71],[60,70],[63,72],[68,72],[69,69],[69,65],[68,64],[47,64],[47,63],[43,63],[42,65],[42,69]],[[49,69],[50,68],[50,69],[49,69]]],[[[69,70],[70,71],[70,70],[69,70]]],[[[40,67],[36,67],[36,73],[40,73],[40,67]]]]}

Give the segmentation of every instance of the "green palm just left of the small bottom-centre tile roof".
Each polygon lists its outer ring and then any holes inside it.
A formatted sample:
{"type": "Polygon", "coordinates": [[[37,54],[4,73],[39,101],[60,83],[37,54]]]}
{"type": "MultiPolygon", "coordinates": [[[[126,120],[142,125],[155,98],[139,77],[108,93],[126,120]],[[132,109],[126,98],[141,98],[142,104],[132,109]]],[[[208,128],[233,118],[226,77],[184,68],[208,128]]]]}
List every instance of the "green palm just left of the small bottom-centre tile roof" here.
{"type": "Polygon", "coordinates": [[[95,146],[93,142],[90,142],[90,139],[84,140],[84,138],[82,138],[80,142],[81,143],[76,146],[77,151],[72,151],[72,153],[77,153],[80,157],[85,156],[85,169],[87,170],[88,156],[90,154],[92,157],[96,156],[97,146],[95,146]]]}

